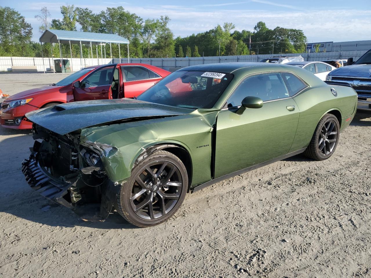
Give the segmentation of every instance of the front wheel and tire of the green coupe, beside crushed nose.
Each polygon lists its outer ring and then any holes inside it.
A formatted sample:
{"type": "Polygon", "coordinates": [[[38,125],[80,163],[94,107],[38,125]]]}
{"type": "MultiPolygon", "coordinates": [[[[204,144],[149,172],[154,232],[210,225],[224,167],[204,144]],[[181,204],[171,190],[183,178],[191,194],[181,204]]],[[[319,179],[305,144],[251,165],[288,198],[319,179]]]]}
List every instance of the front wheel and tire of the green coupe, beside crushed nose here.
{"type": "Polygon", "coordinates": [[[181,160],[159,150],[135,166],[117,196],[115,209],[135,226],[155,226],[175,214],[187,188],[187,170],[181,160]]]}

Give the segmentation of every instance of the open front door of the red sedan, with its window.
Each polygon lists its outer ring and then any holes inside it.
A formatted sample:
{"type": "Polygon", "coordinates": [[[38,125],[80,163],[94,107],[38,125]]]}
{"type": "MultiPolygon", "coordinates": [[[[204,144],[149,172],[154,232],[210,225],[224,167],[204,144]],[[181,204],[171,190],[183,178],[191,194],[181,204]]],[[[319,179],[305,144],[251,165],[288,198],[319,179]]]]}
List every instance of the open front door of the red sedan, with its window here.
{"type": "Polygon", "coordinates": [[[116,65],[107,64],[101,66],[86,76],[80,82],[79,87],[74,86],[73,97],[75,101],[108,99],[116,65]]]}

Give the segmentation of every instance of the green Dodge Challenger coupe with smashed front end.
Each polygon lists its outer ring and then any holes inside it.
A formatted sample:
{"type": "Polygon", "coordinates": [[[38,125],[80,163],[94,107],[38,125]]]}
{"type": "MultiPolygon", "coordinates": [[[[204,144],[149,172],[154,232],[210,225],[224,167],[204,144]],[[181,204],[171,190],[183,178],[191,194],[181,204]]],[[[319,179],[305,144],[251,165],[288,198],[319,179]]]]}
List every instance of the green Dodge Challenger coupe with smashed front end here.
{"type": "Polygon", "coordinates": [[[187,192],[304,152],[324,160],[354,117],[357,94],[300,67],[203,64],[171,73],[137,99],[72,102],[26,114],[35,144],[22,171],[83,219],[115,207],[147,227],[187,192]]]}

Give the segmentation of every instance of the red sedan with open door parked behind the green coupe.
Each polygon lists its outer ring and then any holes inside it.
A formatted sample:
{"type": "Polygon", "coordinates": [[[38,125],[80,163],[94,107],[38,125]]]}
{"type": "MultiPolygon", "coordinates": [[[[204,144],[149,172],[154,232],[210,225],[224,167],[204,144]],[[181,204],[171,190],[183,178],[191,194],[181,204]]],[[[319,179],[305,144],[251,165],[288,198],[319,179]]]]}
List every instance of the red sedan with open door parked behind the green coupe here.
{"type": "Polygon", "coordinates": [[[1,104],[4,128],[31,129],[27,112],[60,103],[138,96],[169,75],[149,64],[107,64],[79,70],[58,83],[10,96],[1,104]]]}

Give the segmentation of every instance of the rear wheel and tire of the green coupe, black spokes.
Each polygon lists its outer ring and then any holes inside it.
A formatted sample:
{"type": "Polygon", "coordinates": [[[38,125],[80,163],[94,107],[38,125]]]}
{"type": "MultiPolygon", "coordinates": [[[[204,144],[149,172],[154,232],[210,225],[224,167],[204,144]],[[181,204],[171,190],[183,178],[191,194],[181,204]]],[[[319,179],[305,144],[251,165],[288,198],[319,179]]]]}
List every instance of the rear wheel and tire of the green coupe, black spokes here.
{"type": "Polygon", "coordinates": [[[328,159],[338,145],[339,130],[338,118],[332,114],[323,116],[304,154],[315,160],[328,159]]]}

